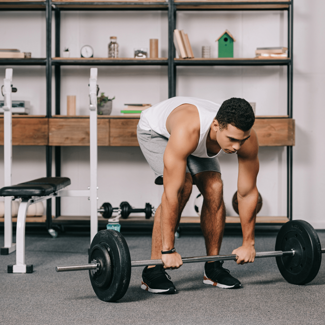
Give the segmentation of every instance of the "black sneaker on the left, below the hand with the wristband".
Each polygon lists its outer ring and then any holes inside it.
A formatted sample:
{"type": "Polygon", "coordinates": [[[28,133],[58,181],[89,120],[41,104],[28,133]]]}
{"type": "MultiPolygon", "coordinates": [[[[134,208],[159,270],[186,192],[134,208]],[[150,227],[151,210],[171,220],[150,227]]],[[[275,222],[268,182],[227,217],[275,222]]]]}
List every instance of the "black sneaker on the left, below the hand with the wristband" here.
{"type": "Polygon", "coordinates": [[[153,293],[175,293],[176,288],[170,279],[171,277],[162,265],[156,265],[149,269],[146,266],[142,271],[141,289],[153,293]]]}

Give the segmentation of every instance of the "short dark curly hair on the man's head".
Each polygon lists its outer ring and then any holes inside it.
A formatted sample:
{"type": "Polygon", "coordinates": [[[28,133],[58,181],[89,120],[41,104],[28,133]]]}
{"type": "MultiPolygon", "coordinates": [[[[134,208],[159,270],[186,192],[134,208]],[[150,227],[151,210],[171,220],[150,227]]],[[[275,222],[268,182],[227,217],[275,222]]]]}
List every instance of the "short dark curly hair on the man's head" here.
{"type": "Polygon", "coordinates": [[[220,131],[226,129],[228,124],[242,131],[248,131],[255,122],[255,115],[247,100],[233,97],[222,103],[215,119],[219,123],[220,131]]]}

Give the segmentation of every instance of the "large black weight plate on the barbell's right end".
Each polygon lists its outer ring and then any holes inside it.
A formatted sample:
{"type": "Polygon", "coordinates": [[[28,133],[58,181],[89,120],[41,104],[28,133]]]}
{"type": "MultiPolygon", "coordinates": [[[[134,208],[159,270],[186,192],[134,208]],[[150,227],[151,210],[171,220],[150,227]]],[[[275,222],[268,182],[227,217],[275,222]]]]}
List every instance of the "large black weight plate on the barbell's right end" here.
{"type": "Polygon", "coordinates": [[[292,248],[294,256],[276,257],[279,271],[289,283],[308,283],[316,277],[322,260],[318,235],[308,222],[291,220],[281,227],[275,250],[290,251],[292,248]]]}

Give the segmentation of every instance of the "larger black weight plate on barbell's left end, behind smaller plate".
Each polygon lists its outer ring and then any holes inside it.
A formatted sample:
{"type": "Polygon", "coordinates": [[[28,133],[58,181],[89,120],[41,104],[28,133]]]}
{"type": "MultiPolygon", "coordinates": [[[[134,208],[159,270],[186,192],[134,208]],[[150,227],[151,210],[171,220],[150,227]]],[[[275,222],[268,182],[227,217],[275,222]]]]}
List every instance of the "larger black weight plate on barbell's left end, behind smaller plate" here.
{"type": "MultiPolygon", "coordinates": [[[[106,287],[99,288],[92,277],[91,270],[89,270],[91,285],[100,300],[113,302],[124,296],[130,283],[131,257],[129,248],[124,237],[116,230],[98,231],[91,242],[90,252],[97,244],[107,247],[111,264],[110,281],[106,287]]],[[[91,255],[89,255],[88,263],[91,261],[91,255]]]]}

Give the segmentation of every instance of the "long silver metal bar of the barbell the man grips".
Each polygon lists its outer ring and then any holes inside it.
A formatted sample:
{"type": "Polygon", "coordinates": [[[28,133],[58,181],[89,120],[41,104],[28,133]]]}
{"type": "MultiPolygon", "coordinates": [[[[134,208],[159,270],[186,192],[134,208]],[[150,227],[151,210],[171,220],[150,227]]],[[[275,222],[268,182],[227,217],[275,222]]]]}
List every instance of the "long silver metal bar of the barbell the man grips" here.
{"type": "MultiPolygon", "coordinates": [[[[322,253],[325,252],[325,248],[322,248],[322,253]]],[[[271,252],[256,252],[255,258],[261,257],[277,257],[277,256],[294,256],[294,249],[282,252],[282,251],[271,251],[271,252]]],[[[195,256],[195,257],[183,257],[183,263],[199,263],[199,262],[211,262],[211,261],[226,261],[236,260],[236,254],[228,255],[211,255],[211,256],[195,256]]],[[[151,266],[151,265],[163,265],[162,260],[142,260],[142,261],[131,261],[131,267],[135,266],[151,266]]],[[[74,264],[74,265],[59,265],[55,267],[56,272],[67,272],[67,271],[84,271],[84,270],[96,270],[99,269],[99,263],[90,264],[74,264]]]]}

